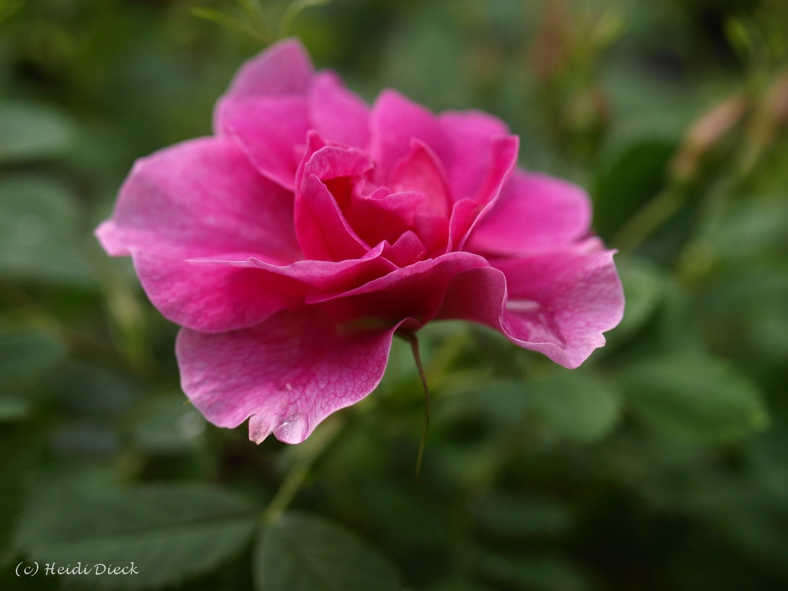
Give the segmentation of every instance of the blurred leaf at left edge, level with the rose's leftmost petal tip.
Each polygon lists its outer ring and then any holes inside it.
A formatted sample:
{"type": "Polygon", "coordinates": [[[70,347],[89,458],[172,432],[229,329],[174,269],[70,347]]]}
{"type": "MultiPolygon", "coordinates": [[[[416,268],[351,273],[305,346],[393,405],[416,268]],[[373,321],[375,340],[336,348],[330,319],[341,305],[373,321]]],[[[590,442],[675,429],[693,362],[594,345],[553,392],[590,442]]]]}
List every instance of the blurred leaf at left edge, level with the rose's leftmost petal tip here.
{"type": "Polygon", "coordinates": [[[80,285],[90,280],[78,247],[79,206],[63,184],[28,176],[0,180],[0,211],[6,277],[80,285]]]}

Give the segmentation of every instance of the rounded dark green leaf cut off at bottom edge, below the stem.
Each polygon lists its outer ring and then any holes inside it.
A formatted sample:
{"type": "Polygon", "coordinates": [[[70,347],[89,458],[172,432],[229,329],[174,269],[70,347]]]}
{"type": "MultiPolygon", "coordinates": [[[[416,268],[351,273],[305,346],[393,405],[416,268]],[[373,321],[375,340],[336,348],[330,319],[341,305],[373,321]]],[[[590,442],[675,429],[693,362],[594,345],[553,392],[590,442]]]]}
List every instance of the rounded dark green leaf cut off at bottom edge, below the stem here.
{"type": "Polygon", "coordinates": [[[255,551],[260,591],[401,591],[400,575],[359,538],[290,512],[266,526],[255,551]]]}

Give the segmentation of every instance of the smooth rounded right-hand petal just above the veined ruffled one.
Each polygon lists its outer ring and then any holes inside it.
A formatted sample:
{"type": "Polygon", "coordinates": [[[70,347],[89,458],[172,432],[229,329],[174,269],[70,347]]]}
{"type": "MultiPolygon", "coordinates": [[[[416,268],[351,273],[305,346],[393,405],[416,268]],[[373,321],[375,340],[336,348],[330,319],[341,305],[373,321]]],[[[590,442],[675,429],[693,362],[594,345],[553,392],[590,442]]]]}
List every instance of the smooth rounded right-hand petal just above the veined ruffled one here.
{"type": "Polygon", "coordinates": [[[517,170],[496,205],[479,221],[466,250],[519,255],[559,247],[585,236],[590,221],[591,203],[582,188],[517,170]]]}

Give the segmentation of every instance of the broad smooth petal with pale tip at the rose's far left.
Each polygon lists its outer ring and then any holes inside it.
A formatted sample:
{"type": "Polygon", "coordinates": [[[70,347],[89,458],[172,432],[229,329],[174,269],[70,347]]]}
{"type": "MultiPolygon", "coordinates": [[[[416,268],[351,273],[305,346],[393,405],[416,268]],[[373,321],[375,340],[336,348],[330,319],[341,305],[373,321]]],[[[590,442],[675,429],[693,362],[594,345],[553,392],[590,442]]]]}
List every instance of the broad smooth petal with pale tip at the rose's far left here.
{"type": "Polygon", "coordinates": [[[193,139],[137,161],[96,235],[113,256],[252,251],[281,263],[300,258],[292,219],[292,195],[261,177],[234,143],[193,139]]]}

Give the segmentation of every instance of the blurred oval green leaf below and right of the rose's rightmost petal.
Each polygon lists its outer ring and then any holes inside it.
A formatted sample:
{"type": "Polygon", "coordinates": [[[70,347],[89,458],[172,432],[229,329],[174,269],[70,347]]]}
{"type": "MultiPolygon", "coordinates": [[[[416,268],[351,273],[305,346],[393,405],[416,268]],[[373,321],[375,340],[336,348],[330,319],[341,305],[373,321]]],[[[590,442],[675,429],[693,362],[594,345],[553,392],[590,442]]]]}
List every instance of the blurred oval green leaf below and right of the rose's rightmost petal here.
{"type": "Polygon", "coordinates": [[[697,352],[630,366],[621,380],[635,414],[671,437],[717,443],[768,424],[756,386],[734,366],[697,352]]]}

